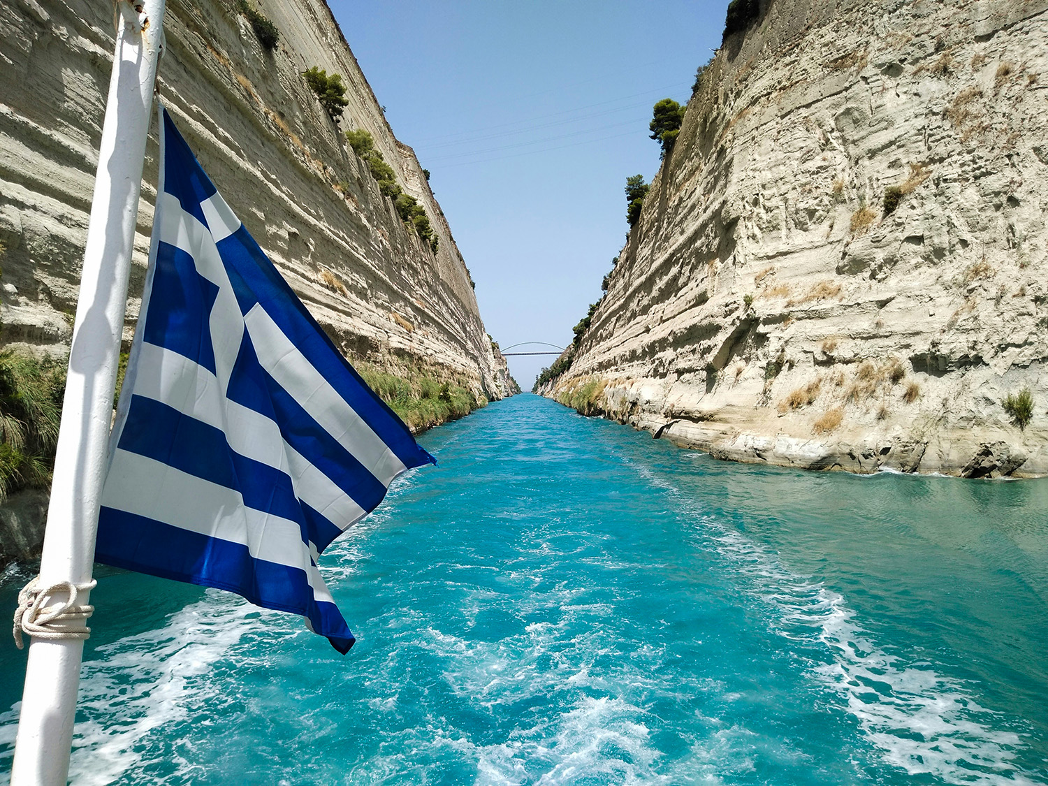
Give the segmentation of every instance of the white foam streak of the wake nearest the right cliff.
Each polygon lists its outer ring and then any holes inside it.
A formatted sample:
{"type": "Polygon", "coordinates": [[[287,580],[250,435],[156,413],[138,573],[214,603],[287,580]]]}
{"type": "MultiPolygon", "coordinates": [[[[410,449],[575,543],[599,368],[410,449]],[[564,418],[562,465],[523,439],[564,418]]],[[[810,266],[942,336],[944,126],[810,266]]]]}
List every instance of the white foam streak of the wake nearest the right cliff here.
{"type": "Polygon", "coordinates": [[[1041,783],[1014,762],[1025,744],[1019,734],[1001,728],[1009,719],[981,706],[960,680],[938,674],[930,663],[907,663],[888,653],[855,620],[840,594],[790,571],[760,544],[696,510],[686,495],[648,467],[635,468],[700,522],[702,534],[749,580],[744,589],[773,612],[774,633],[826,648],[830,660],[813,664],[813,676],[843,699],[883,761],[910,776],[948,784],[1041,783]]]}

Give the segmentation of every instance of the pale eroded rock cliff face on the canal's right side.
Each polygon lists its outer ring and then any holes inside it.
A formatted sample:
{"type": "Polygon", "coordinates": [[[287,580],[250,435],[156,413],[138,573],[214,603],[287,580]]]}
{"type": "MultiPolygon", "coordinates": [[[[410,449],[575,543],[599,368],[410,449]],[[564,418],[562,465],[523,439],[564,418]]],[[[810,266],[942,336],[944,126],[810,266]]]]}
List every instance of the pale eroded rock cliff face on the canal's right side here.
{"type": "Polygon", "coordinates": [[[543,392],[735,460],[1048,473],[1046,139],[1045,0],[764,3],[543,392]]]}

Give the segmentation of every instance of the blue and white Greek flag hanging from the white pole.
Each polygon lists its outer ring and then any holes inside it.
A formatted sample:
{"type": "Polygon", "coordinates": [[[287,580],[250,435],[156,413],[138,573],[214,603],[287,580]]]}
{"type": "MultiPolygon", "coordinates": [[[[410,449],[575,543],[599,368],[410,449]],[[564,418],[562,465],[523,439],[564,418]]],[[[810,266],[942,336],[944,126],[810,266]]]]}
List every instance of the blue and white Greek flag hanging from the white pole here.
{"type": "Polygon", "coordinates": [[[230,210],[166,109],[141,311],[95,559],[350,632],[316,567],[392,480],[433,462],[230,210]]]}

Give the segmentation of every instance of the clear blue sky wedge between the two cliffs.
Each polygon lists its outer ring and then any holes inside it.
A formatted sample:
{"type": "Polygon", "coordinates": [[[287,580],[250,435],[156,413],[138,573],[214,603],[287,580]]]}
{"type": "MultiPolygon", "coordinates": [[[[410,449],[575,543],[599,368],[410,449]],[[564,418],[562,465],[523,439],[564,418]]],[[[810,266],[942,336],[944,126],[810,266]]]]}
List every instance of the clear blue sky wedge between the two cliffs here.
{"type": "MultiPolygon", "coordinates": [[[[687,101],[727,0],[330,5],[433,173],[488,332],[567,346],[621,248],[626,178],[658,170],[652,105],[687,101]]],[[[553,359],[509,367],[528,389],[553,359]]]]}

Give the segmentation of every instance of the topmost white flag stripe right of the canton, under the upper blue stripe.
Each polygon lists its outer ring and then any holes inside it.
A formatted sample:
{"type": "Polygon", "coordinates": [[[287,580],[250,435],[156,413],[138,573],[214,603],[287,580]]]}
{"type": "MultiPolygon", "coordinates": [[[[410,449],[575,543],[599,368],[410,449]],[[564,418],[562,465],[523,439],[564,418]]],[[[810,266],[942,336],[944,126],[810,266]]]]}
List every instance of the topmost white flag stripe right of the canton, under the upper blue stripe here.
{"type": "Polygon", "coordinates": [[[260,303],[244,316],[259,363],[324,431],[384,486],[407,467],[331,384],[284,335],[260,303]]]}

